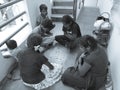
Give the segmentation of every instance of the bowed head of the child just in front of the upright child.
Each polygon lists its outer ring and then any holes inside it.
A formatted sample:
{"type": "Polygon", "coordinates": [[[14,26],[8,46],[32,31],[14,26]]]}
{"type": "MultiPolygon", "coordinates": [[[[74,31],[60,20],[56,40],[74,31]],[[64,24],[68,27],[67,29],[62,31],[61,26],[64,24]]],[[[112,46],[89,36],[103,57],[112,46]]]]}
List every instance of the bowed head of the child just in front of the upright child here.
{"type": "Polygon", "coordinates": [[[52,20],[50,19],[45,19],[42,23],[41,23],[41,28],[45,31],[45,32],[49,32],[50,30],[52,30],[55,27],[55,24],[53,24],[52,20]]]}

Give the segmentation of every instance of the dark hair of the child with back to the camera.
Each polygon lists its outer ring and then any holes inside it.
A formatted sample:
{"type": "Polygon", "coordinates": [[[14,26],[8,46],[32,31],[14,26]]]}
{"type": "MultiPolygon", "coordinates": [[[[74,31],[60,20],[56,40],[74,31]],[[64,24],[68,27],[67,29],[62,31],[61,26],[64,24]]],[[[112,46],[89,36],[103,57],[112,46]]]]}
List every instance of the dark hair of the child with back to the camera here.
{"type": "Polygon", "coordinates": [[[34,49],[34,46],[40,45],[42,42],[42,37],[38,33],[32,33],[27,38],[28,48],[34,49]]]}

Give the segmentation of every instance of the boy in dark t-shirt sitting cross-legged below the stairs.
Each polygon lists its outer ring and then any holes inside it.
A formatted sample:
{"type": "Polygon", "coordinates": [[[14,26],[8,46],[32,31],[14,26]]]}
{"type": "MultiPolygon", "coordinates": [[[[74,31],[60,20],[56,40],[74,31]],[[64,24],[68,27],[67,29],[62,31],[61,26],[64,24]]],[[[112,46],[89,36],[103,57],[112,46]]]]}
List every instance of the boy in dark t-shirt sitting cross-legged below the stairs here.
{"type": "Polygon", "coordinates": [[[73,41],[76,38],[81,37],[80,27],[69,15],[63,16],[62,23],[64,35],[56,36],[55,40],[61,45],[72,49],[73,41]]]}

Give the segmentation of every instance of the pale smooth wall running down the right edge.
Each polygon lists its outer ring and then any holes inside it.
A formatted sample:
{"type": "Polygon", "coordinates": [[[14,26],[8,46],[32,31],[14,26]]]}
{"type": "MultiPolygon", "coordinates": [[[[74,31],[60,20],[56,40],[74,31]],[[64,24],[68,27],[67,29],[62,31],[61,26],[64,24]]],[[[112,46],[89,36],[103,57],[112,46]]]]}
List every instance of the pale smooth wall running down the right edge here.
{"type": "MultiPolygon", "coordinates": [[[[117,1],[117,0],[115,0],[117,1]]],[[[114,90],[120,90],[120,1],[114,2],[111,10],[113,31],[108,46],[114,90]]]]}

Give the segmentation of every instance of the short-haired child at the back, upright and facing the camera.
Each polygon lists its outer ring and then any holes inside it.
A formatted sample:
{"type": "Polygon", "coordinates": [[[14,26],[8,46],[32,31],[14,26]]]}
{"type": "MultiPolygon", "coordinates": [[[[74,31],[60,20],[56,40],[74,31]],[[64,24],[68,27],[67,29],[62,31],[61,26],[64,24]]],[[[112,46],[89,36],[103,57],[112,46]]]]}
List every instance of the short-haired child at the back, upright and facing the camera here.
{"type": "Polygon", "coordinates": [[[39,10],[41,14],[37,18],[37,22],[36,22],[37,26],[40,25],[45,19],[49,19],[47,9],[48,8],[45,4],[41,4],[39,6],[39,10]]]}

